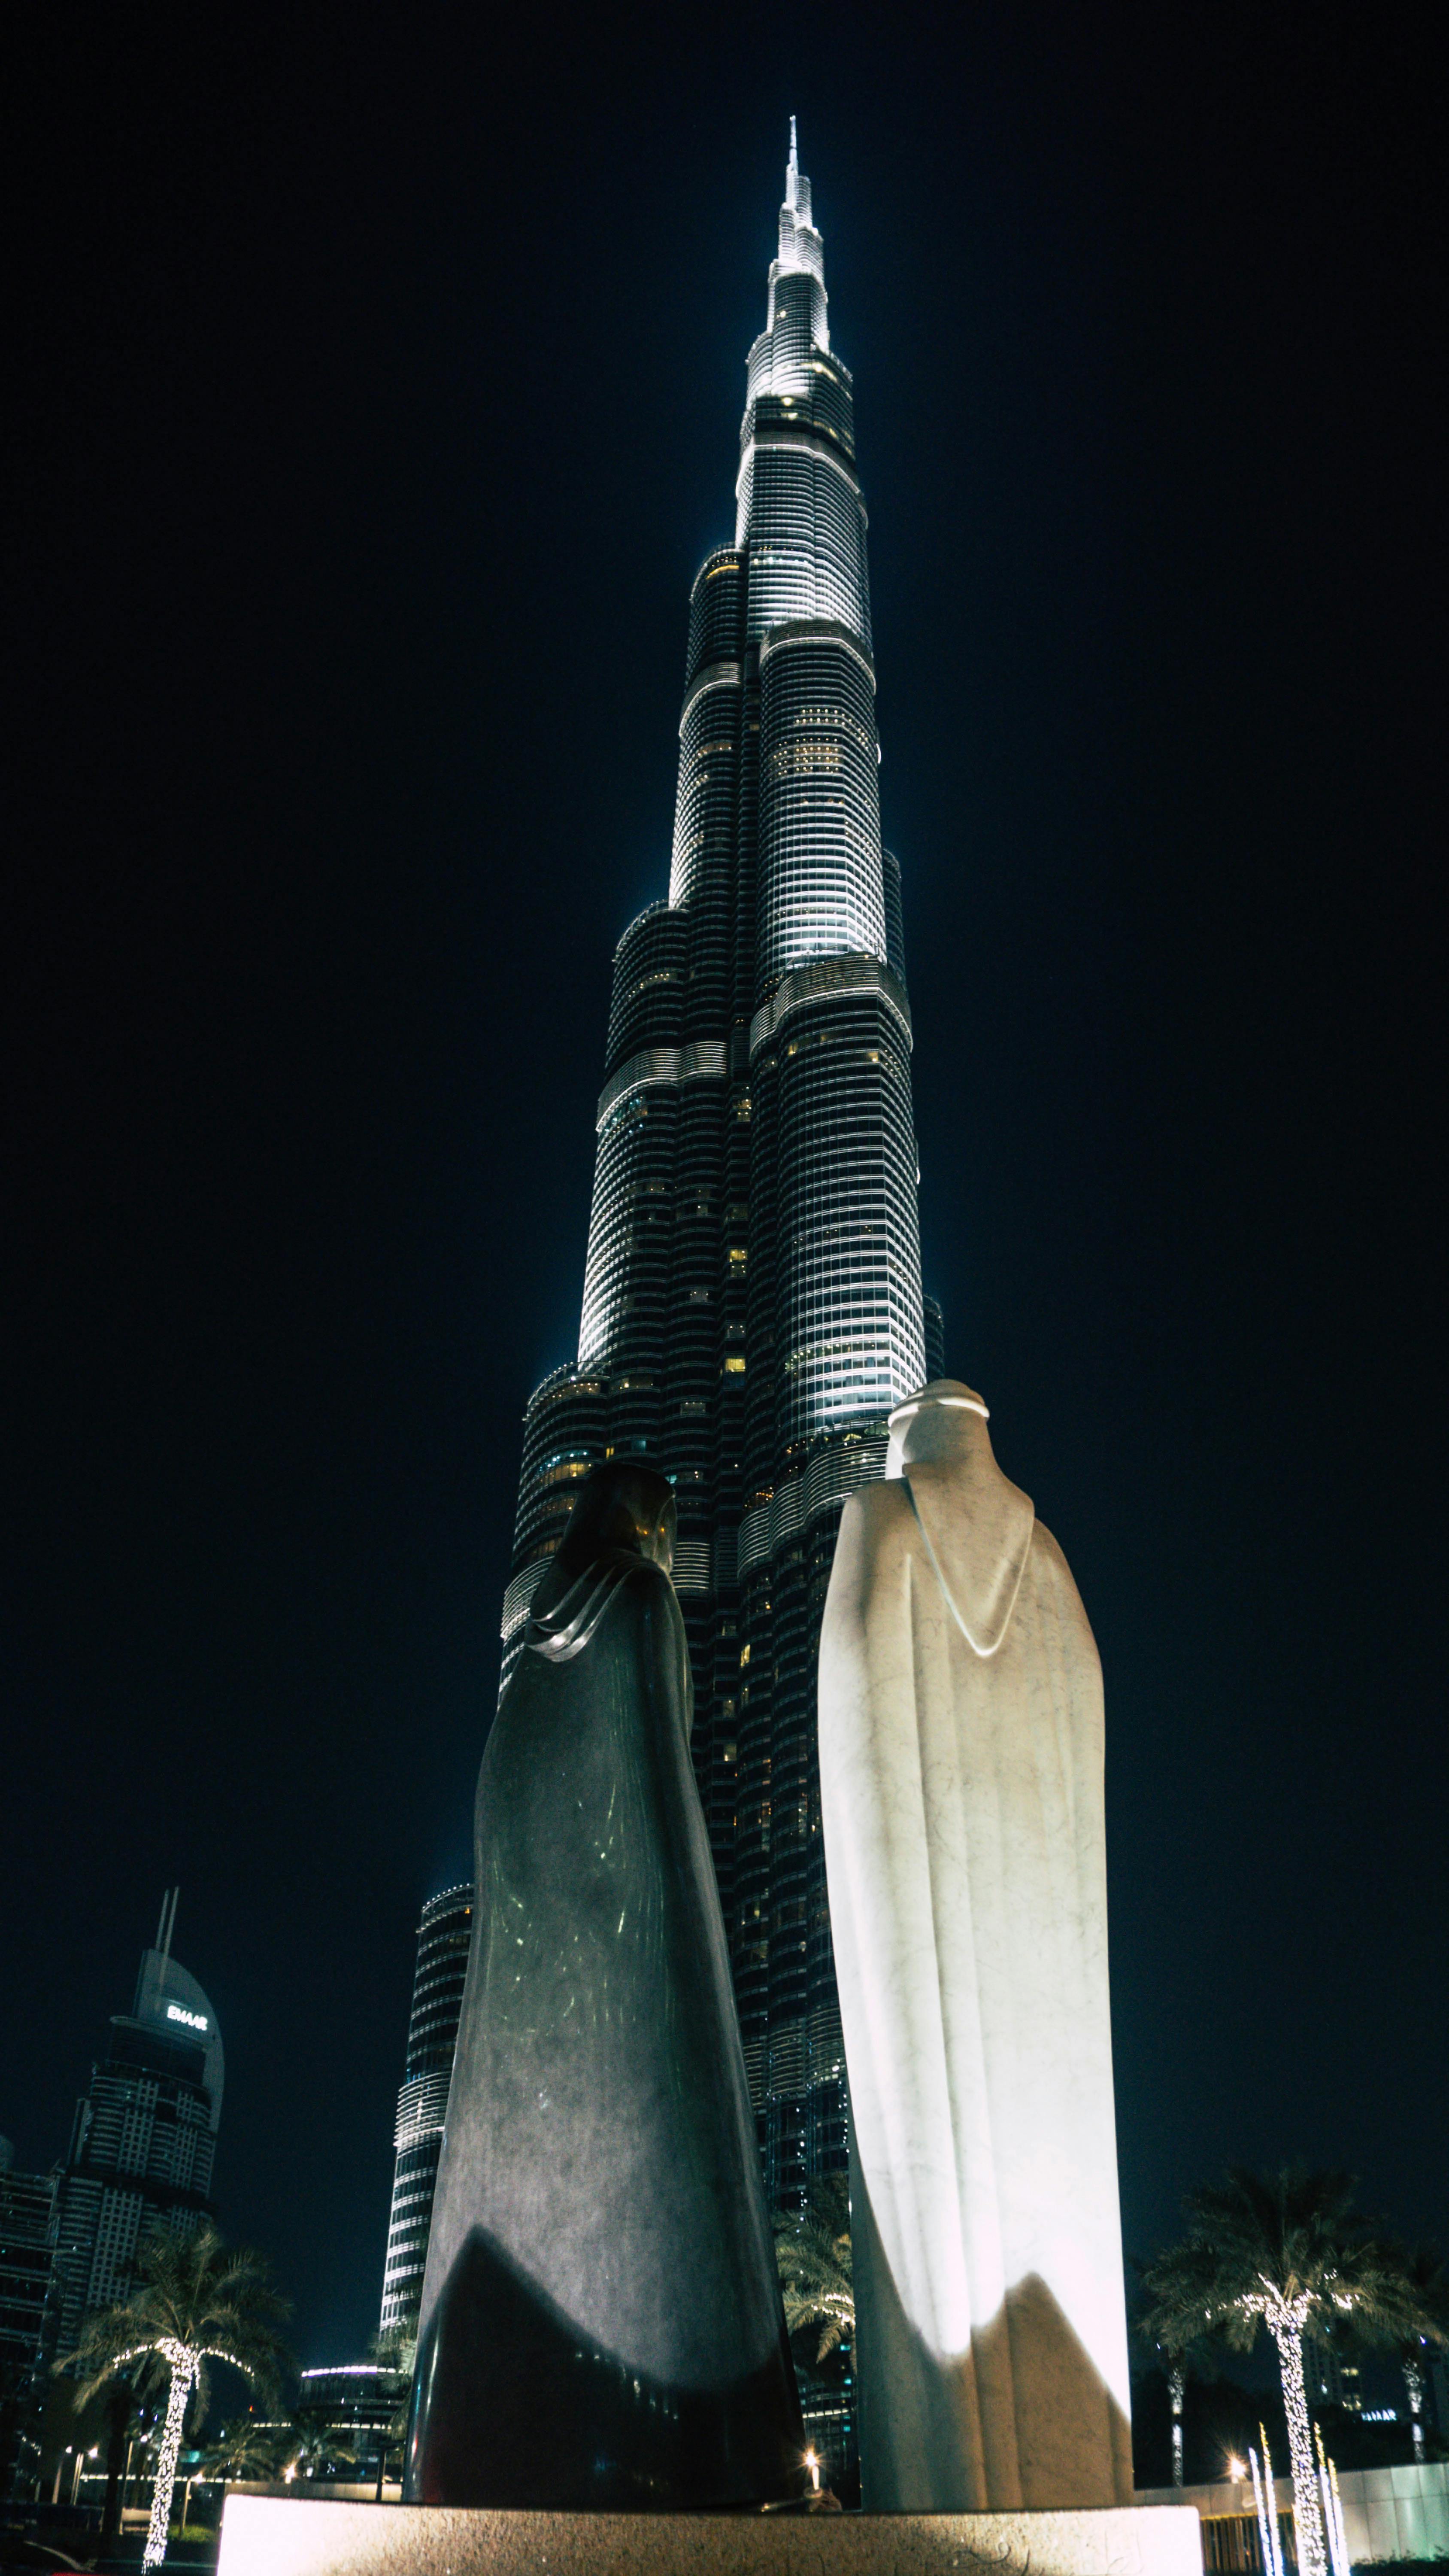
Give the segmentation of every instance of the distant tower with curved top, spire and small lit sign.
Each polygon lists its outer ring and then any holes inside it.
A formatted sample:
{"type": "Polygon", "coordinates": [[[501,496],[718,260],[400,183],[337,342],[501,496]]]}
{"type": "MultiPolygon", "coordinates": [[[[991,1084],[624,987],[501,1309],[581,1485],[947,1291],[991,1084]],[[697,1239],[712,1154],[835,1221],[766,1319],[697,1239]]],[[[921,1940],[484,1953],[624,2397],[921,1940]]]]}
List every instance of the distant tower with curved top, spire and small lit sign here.
{"type": "Polygon", "coordinates": [[[57,2218],[62,2352],[95,2308],[129,2298],[147,2236],[188,2236],[211,2215],[226,2058],[206,1994],[170,1955],[175,1901],[170,1888],[136,2002],[111,2017],[75,2107],[57,2218]]]}

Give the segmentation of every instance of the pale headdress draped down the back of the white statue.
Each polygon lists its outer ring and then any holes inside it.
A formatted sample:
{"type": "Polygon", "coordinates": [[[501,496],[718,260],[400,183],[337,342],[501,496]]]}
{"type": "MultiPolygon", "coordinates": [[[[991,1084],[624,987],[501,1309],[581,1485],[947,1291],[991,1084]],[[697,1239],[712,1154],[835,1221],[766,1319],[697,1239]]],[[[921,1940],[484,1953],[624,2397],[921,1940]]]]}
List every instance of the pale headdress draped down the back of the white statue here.
{"type": "Polygon", "coordinates": [[[983,1409],[952,1409],[950,1425],[952,1453],[909,1461],[901,1481],[952,1618],[988,1656],[1011,1625],[1037,1507],[996,1466],[983,1409]]]}

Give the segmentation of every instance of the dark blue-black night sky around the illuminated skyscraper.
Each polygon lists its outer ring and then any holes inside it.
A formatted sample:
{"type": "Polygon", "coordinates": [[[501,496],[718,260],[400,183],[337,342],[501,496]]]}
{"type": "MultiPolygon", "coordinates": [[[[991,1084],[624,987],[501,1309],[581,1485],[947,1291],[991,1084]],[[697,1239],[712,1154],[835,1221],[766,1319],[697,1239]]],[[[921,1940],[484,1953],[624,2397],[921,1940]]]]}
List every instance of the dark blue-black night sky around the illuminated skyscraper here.
{"type": "Polygon", "coordinates": [[[927,1285],[1107,1667],[1127,2244],[1449,2236],[1431,10],[10,13],[0,2130],[162,1888],[376,2324],[788,113],[927,1285]],[[15,52],[21,49],[21,52],[15,52]]]}

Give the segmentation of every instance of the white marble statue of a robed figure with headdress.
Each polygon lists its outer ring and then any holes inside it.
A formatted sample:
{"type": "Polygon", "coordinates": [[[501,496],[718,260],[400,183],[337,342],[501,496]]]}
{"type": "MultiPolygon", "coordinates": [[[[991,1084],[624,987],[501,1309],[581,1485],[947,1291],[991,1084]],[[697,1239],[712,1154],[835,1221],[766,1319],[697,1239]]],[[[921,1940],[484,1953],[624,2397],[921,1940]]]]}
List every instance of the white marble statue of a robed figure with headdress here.
{"type": "Polygon", "coordinates": [[[1130,2504],[1102,1664],[952,1378],[844,1507],[821,1811],[865,2504],[1130,2504]]]}

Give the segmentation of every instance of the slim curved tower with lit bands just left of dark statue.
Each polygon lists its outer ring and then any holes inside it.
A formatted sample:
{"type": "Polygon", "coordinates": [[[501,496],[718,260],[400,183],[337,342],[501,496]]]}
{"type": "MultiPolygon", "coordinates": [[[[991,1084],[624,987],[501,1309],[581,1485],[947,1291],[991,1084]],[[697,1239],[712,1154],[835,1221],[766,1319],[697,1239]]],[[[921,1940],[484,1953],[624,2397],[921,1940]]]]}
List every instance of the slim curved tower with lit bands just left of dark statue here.
{"type": "Polygon", "coordinates": [[[474,1891],[443,1888],[430,1896],[417,1927],[407,2066],[396,2097],[396,2164],[391,2184],[389,2251],[383,2262],[381,2331],[412,2326],[422,2298],[432,2192],[448,2117],[453,2043],[468,1976],[474,1891]]]}

